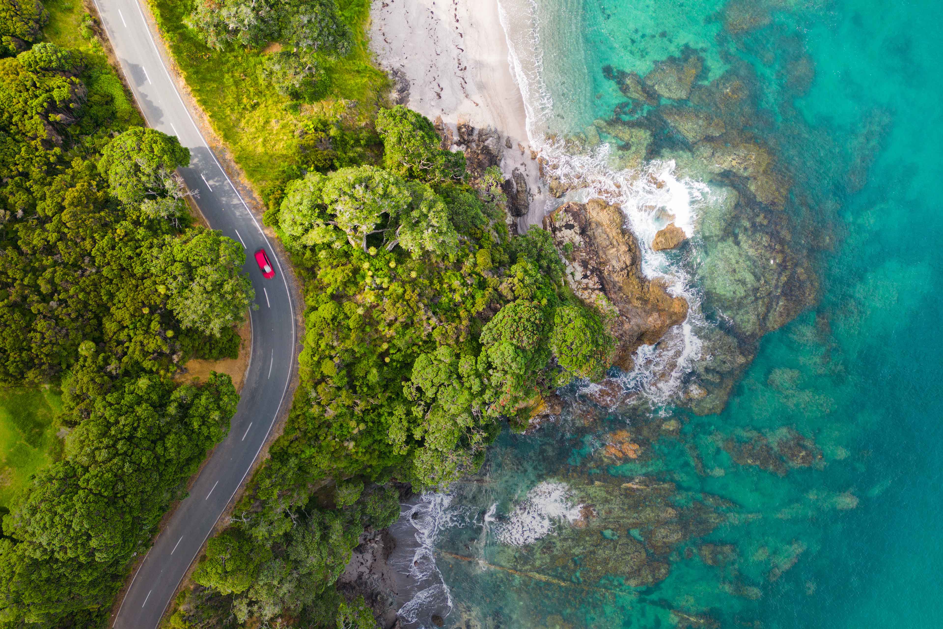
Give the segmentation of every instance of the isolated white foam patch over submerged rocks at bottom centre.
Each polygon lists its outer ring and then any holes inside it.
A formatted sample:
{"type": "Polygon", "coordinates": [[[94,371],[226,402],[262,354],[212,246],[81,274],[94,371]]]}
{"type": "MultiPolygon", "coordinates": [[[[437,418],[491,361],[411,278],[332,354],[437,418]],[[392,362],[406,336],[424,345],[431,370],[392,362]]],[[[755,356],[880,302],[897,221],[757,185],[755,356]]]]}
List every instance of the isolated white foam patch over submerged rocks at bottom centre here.
{"type": "Polygon", "coordinates": [[[544,481],[528,491],[508,519],[495,527],[495,536],[512,546],[532,544],[547,537],[558,523],[578,519],[581,507],[574,504],[569,486],[544,481]]]}

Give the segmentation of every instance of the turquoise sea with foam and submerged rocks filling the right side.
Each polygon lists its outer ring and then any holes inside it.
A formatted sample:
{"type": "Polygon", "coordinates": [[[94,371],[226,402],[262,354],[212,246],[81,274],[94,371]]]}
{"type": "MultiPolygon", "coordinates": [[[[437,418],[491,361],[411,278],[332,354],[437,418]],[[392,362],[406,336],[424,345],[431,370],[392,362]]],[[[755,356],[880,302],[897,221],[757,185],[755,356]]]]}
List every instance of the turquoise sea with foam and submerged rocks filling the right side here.
{"type": "Polygon", "coordinates": [[[410,626],[943,627],[943,5],[501,4],[548,174],[691,315],[407,507],[410,626]]]}

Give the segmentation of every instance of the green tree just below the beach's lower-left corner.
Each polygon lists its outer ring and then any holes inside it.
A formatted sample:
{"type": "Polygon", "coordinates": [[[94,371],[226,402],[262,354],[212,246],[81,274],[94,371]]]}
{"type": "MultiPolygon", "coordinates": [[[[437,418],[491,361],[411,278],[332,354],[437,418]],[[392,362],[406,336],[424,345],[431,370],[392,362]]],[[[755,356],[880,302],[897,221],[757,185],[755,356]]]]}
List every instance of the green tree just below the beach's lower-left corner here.
{"type": "Polygon", "coordinates": [[[464,178],[465,155],[440,148],[436,128],[421,113],[402,105],[380,109],[376,130],[383,138],[383,165],[389,172],[429,183],[464,178]]]}

